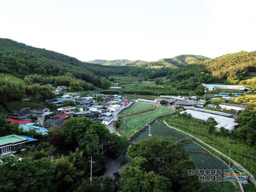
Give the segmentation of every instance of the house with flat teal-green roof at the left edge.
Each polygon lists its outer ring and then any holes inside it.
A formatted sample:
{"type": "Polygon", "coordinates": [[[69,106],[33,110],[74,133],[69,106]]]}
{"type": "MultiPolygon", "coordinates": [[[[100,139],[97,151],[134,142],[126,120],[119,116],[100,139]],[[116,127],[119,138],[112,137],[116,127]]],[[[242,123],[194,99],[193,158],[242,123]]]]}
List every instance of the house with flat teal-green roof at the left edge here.
{"type": "Polygon", "coordinates": [[[0,137],[0,155],[16,152],[18,148],[25,148],[28,139],[18,135],[7,135],[0,137]]]}

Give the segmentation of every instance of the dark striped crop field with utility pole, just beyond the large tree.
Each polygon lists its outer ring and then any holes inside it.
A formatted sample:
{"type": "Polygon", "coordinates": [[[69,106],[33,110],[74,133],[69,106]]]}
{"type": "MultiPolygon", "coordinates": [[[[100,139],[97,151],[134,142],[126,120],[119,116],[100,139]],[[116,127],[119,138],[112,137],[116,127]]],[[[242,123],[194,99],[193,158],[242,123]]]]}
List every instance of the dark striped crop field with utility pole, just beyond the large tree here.
{"type": "MultiPolygon", "coordinates": [[[[132,138],[133,142],[148,138],[149,128],[144,129],[140,134],[132,138]]],[[[150,125],[150,134],[152,136],[159,136],[160,138],[172,138],[172,142],[178,142],[186,139],[186,136],[174,129],[171,129],[163,124],[154,122],[150,125]]]]}

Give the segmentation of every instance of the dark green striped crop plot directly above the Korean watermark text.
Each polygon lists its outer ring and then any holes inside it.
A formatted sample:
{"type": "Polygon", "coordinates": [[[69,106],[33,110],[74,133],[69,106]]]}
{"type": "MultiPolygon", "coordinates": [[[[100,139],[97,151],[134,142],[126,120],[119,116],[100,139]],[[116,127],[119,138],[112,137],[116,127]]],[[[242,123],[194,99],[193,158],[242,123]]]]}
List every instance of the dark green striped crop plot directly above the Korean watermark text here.
{"type": "Polygon", "coordinates": [[[204,152],[188,152],[189,157],[194,161],[196,169],[204,170],[224,170],[228,169],[224,163],[220,162],[214,156],[204,152]]]}

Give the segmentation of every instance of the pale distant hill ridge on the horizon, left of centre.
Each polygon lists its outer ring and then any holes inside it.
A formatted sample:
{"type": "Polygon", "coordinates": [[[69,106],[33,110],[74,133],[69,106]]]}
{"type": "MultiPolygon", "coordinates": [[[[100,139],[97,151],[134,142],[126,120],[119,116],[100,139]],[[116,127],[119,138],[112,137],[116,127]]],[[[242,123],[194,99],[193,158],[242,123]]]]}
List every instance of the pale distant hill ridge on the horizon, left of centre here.
{"type": "Polygon", "coordinates": [[[128,60],[128,59],[117,59],[117,60],[92,60],[88,61],[88,63],[100,64],[100,65],[114,65],[114,66],[123,66],[123,65],[136,65],[140,63],[145,63],[146,61],[142,60],[128,60]]]}

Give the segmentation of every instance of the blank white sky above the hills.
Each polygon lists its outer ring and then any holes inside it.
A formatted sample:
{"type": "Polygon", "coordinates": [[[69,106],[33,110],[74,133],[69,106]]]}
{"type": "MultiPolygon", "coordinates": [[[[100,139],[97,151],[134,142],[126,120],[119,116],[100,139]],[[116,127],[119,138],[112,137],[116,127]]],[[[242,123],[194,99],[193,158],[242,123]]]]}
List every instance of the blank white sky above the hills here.
{"type": "Polygon", "coordinates": [[[82,61],[256,50],[256,0],[1,0],[0,37],[82,61]]]}

